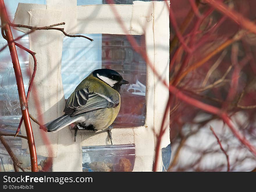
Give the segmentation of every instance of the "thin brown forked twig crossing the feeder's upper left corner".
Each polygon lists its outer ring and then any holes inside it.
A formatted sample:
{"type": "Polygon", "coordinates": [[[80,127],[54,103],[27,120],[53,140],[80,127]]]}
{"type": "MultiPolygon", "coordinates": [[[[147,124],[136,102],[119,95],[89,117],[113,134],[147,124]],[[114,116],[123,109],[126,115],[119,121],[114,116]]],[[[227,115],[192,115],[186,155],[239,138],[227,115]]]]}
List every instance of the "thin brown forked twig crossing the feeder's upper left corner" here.
{"type": "Polygon", "coordinates": [[[65,22],[62,22],[62,23],[57,23],[57,24],[53,24],[53,25],[49,25],[49,26],[45,26],[45,27],[32,27],[32,26],[29,26],[29,25],[20,25],[20,24],[13,24],[13,23],[10,23],[10,25],[12,27],[18,27],[18,28],[27,28],[27,29],[31,29],[33,31],[36,31],[36,30],[58,30],[58,31],[61,31],[63,32],[63,34],[65,36],[68,36],[68,37],[83,37],[83,38],[86,38],[90,41],[93,41],[93,39],[87,37],[87,36],[84,36],[84,35],[70,35],[70,34],[67,34],[65,31],[64,31],[64,28],[54,28],[54,26],[58,26],[58,25],[65,25],[65,22]]]}

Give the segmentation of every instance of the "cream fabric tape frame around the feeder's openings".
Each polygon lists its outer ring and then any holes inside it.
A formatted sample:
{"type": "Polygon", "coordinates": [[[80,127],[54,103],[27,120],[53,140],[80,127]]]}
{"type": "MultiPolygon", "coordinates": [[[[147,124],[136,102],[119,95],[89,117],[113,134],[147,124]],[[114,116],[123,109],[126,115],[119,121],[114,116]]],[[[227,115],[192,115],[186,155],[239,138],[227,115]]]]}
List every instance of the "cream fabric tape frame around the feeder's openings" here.
{"type": "MultiPolygon", "coordinates": [[[[169,1],[168,1],[169,3],[169,1]]],[[[125,34],[115,18],[111,7],[115,6],[129,34],[145,34],[146,51],[154,69],[169,82],[169,11],[164,1],[134,1],[133,5],[87,5],[77,6],[76,0],[47,0],[47,5],[19,3],[14,23],[47,26],[65,21],[65,31],[69,34],[125,34]]],[[[27,29],[18,29],[28,32],[27,29]]],[[[64,35],[55,30],[40,30],[29,34],[30,49],[36,52],[38,61],[34,84],[48,122],[63,114],[65,105],[61,80],[61,55],[64,35]],[[49,83],[51,86],[49,87],[49,83]]],[[[81,41],[87,41],[81,39],[81,41]]],[[[33,58],[29,58],[33,69],[33,58]]],[[[32,72],[32,70],[31,70],[32,72]]],[[[146,85],[147,113],[145,126],[112,129],[115,145],[132,144],[136,146],[133,171],[152,171],[154,162],[156,134],[161,128],[164,109],[169,92],[154,72],[147,66],[146,85]]],[[[29,111],[37,117],[33,92],[29,100],[29,111]]],[[[167,114],[169,115],[169,114],[167,114]]],[[[166,126],[169,126],[167,118],[166,126]]],[[[37,154],[49,156],[41,139],[38,125],[32,122],[37,154]]],[[[22,127],[24,134],[24,127],[22,127]]],[[[161,148],[170,143],[170,131],[162,137],[161,148]]],[[[74,131],[64,128],[56,133],[47,133],[53,149],[53,171],[82,171],[82,146],[109,145],[106,131],[90,131],[78,134],[74,142],[74,131]],[[77,157],[77,158],[76,158],[77,157]]],[[[23,140],[23,148],[27,148],[23,140]]],[[[162,170],[161,153],[157,170],[162,170]]]]}

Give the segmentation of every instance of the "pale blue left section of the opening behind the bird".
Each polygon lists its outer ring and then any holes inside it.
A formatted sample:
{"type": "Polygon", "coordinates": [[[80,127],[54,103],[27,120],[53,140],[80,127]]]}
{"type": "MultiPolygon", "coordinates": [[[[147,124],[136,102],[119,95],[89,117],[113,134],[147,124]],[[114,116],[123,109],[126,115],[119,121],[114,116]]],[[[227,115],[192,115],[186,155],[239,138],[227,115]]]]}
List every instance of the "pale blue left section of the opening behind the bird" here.
{"type": "Polygon", "coordinates": [[[65,99],[90,72],[102,68],[102,34],[82,35],[93,41],[82,37],[63,39],[61,78],[65,99]]]}

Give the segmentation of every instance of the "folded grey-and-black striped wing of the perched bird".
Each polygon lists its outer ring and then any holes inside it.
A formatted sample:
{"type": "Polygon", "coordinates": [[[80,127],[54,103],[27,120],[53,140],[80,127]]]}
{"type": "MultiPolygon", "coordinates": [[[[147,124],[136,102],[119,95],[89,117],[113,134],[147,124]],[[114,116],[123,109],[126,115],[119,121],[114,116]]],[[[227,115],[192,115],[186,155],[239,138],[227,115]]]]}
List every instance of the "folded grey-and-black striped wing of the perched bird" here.
{"type": "Polygon", "coordinates": [[[119,105],[117,97],[114,100],[112,97],[107,97],[99,93],[87,93],[88,89],[77,90],[73,92],[67,99],[64,109],[65,114],[75,116],[88,111],[93,111],[100,108],[112,108],[119,105]]]}

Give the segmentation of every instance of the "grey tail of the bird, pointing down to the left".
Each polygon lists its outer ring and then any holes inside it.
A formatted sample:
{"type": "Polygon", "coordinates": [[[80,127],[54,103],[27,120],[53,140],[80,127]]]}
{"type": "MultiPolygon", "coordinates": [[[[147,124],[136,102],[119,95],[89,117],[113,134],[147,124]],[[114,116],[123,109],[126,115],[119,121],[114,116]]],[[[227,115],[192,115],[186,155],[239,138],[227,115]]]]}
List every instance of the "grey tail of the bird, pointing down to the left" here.
{"type": "Polygon", "coordinates": [[[77,120],[78,118],[70,117],[70,115],[63,115],[46,123],[44,127],[47,128],[47,132],[57,132],[77,120]]]}

